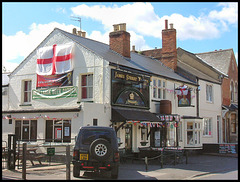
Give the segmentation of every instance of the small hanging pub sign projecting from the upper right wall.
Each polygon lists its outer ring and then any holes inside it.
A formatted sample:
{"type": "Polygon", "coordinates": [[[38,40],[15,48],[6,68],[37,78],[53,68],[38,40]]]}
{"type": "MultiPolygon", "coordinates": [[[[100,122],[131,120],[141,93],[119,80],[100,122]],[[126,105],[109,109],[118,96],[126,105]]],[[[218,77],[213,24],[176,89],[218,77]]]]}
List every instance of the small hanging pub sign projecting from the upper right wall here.
{"type": "Polygon", "coordinates": [[[191,105],[191,91],[186,85],[175,89],[178,96],[178,107],[188,107],[191,105]]]}

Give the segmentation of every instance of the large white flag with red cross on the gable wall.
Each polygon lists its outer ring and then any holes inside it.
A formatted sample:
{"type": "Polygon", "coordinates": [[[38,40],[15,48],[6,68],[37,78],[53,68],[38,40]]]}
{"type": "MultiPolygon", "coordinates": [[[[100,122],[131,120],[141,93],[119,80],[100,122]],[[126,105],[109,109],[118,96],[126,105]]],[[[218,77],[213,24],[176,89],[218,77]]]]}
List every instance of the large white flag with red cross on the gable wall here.
{"type": "Polygon", "coordinates": [[[37,51],[37,74],[56,75],[72,71],[73,44],[54,44],[37,51]]]}

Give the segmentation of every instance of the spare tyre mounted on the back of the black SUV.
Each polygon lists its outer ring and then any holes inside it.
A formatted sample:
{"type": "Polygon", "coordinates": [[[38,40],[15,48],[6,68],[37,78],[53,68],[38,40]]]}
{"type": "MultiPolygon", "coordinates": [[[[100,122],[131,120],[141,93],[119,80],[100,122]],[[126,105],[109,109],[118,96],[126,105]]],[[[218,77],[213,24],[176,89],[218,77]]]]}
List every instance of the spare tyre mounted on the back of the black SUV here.
{"type": "Polygon", "coordinates": [[[107,160],[111,153],[112,149],[110,143],[103,138],[94,140],[90,145],[90,155],[98,161],[107,160]]]}

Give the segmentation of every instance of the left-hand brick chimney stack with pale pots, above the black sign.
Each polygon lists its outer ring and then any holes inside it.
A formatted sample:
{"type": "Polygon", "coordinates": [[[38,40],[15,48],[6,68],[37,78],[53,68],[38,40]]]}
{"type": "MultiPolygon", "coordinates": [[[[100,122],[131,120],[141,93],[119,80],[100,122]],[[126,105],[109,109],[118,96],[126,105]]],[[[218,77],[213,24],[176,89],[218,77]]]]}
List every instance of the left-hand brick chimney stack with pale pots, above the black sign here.
{"type": "Polygon", "coordinates": [[[126,31],[126,23],[113,25],[113,32],[109,34],[109,46],[113,51],[130,58],[130,33],[126,31]]]}

